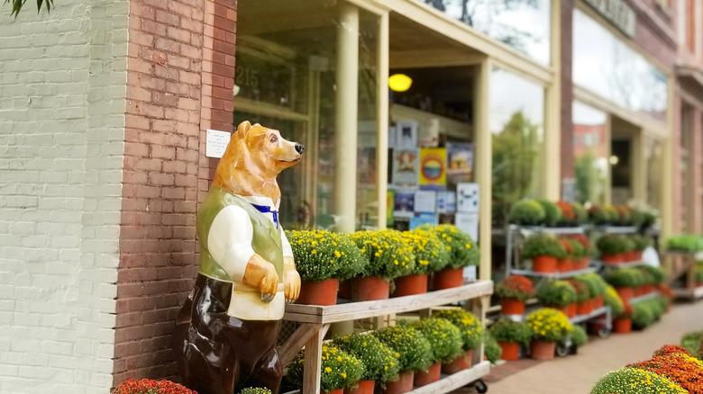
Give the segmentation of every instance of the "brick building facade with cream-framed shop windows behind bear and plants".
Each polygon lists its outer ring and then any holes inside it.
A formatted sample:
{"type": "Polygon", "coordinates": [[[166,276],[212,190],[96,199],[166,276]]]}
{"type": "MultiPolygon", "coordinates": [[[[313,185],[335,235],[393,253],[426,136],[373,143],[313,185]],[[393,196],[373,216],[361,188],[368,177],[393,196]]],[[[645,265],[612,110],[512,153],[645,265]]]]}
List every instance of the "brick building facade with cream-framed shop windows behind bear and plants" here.
{"type": "Polygon", "coordinates": [[[279,177],[285,228],[405,228],[421,186],[478,184],[471,215],[425,219],[478,222],[481,278],[525,197],[648,206],[664,235],[699,232],[702,20],[692,0],[66,0],[2,14],[0,391],[178,379],[169,340],[217,164],[208,130],[243,120],[306,145],[279,177]],[[389,89],[396,75],[410,87],[389,89]],[[441,180],[437,152],[451,156],[441,180]],[[429,184],[404,177],[412,155],[429,184]]]}

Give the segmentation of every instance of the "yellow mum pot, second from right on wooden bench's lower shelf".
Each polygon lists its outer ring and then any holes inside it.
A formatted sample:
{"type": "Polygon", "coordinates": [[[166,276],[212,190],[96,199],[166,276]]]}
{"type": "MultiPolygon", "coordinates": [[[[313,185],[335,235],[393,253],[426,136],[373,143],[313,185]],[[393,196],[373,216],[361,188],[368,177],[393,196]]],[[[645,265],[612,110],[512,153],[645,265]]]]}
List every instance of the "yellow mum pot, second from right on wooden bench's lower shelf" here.
{"type": "MultiPolygon", "coordinates": [[[[413,328],[420,331],[432,346],[432,365],[427,372],[415,372],[415,386],[425,386],[426,384],[438,381],[443,363],[451,363],[463,355],[463,340],[461,331],[446,318],[436,316],[423,318],[417,321],[413,328]]],[[[447,371],[453,373],[458,371],[447,371]]]]}

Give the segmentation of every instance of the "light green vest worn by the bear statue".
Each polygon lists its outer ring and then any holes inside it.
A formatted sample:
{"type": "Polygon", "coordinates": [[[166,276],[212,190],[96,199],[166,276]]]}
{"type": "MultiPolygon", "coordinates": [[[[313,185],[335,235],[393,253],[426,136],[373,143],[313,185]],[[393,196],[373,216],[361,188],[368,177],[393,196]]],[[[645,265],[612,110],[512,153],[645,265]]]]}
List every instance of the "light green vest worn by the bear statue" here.
{"type": "Polygon", "coordinates": [[[220,264],[215,262],[207,249],[207,237],[210,227],[220,210],[230,205],[246,210],[251,219],[253,237],[251,247],[257,255],[269,261],[276,268],[278,282],[283,280],[283,246],[280,240],[280,231],[263,213],[251,206],[251,203],[222,188],[213,186],[207,193],[205,201],[197,210],[196,230],[200,243],[200,273],[221,281],[232,282],[232,278],[224,272],[220,264]]]}

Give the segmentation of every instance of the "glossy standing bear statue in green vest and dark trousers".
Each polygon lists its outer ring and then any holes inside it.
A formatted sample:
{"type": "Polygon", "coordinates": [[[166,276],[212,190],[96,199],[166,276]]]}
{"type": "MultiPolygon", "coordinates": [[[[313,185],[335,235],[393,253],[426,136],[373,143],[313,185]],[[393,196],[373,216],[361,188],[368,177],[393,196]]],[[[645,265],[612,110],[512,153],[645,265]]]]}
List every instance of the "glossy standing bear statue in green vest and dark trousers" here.
{"type": "Polygon", "coordinates": [[[197,210],[200,267],[178,312],[173,348],[183,383],[199,394],[278,392],[276,339],[300,276],[278,223],[276,177],[304,150],[278,130],[243,121],[197,210]]]}

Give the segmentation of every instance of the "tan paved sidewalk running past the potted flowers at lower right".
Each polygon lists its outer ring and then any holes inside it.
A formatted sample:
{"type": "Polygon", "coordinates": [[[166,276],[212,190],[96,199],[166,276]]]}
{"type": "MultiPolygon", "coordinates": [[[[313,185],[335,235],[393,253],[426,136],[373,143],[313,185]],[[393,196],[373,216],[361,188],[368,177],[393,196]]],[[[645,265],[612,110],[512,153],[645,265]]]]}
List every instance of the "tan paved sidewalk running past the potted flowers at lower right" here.
{"type": "MultiPolygon", "coordinates": [[[[485,379],[490,394],[590,392],[607,372],[650,358],[662,345],[679,345],[681,336],[703,330],[703,301],[674,304],[671,311],[644,331],[613,334],[607,339],[589,336],[579,354],[537,362],[521,359],[496,366],[485,379]]],[[[454,393],[475,392],[470,389],[454,393]]]]}

